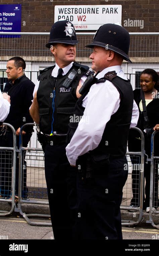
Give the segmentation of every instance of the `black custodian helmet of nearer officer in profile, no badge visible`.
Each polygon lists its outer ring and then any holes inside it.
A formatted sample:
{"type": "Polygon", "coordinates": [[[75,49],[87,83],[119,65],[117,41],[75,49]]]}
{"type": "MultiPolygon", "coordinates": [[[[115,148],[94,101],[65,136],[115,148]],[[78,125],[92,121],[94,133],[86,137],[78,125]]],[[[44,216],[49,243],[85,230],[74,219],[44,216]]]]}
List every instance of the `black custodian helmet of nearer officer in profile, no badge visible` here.
{"type": "Polygon", "coordinates": [[[106,50],[112,50],[123,59],[132,63],[128,57],[130,36],[128,31],[120,25],[104,24],[96,32],[93,42],[85,47],[93,48],[95,45],[104,47],[106,50]]]}

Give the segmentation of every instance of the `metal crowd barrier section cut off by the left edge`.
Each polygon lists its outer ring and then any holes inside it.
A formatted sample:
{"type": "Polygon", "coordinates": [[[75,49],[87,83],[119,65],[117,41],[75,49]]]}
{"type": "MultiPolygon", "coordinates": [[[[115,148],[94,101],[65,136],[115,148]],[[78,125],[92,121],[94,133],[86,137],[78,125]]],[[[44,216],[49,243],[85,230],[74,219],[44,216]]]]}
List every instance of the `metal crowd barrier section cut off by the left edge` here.
{"type": "Polygon", "coordinates": [[[16,131],[12,125],[3,123],[0,130],[0,146],[0,189],[3,188],[3,193],[0,194],[0,202],[11,204],[9,211],[0,210],[0,216],[6,216],[11,214],[15,207],[16,131]],[[11,129],[13,134],[13,147],[1,146],[7,136],[6,133],[8,133],[7,127],[11,129]]]}

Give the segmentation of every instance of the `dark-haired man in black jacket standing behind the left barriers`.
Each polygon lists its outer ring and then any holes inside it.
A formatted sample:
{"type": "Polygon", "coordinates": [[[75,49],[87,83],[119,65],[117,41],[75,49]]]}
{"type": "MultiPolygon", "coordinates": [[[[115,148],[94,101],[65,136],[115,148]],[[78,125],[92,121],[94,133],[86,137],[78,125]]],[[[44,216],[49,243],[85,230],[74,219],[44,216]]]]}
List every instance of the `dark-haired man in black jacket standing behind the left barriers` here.
{"type": "MultiPolygon", "coordinates": [[[[19,133],[20,127],[25,123],[33,123],[33,119],[29,114],[29,107],[33,99],[34,83],[25,76],[26,64],[20,57],[13,57],[9,59],[7,63],[7,82],[4,92],[7,92],[10,96],[11,106],[10,111],[5,119],[5,123],[11,124],[16,131],[16,143],[19,148],[19,133]]],[[[32,136],[33,129],[26,128],[23,134],[23,146],[27,147],[30,138],[32,136]]],[[[13,134],[10,128],[7,129],[5,136],[0,136],[1,147],[13,147],[13,134]]],[[[22,197],[24,199],[28,196],[28,188],[26,185],[27,169],[26,162],[24,161],[25,168],[23,168],[23,185],[22,185],[22,197]]],[[[12,175],[12,159],[9,152],[5,152],[1,157],[1,196],[10,198],[11,196],[11,175],[12,175]]],[[[16,181],[15,181],[15,195],[18,196],[18,175],[19,175],[19,158],[16,157],[16,181]]]]}

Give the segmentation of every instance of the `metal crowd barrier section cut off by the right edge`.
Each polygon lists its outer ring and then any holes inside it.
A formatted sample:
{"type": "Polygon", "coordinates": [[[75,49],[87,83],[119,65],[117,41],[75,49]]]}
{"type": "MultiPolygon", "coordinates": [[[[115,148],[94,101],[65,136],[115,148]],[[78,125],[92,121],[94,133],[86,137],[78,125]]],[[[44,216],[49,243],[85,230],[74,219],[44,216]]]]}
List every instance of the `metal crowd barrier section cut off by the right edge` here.
{"type": "Polygon", "coordinates": [[[154,137],[158,131],[154,131],[151,136],[151,177],[150,177],[150,220],[147,223],[151,223],[153,227],[159,229],[159,224],[154,223],[154,215],[159,213],[156,211],[158,207],[158,178],[159,178],[159,156],[154,156],[154,137]],[[155,198],[157,197],[157,201],[155,198]]]}

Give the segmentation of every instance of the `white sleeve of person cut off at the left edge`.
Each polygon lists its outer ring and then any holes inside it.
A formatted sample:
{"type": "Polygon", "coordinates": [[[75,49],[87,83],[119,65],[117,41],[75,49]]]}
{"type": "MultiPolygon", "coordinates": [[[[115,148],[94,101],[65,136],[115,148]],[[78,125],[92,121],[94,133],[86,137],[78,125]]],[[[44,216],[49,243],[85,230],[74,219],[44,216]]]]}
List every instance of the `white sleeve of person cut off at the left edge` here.
{"type": "Polygon", "coordinates": [[[10,109],[10,103],[8,100],[4,99],[2,96],[2,92],[0,90],[0,122],[3,122],[8,114],[10,109]]]}

